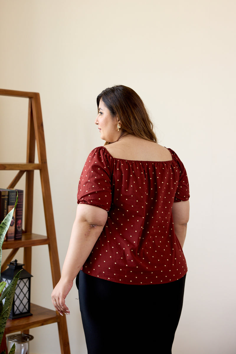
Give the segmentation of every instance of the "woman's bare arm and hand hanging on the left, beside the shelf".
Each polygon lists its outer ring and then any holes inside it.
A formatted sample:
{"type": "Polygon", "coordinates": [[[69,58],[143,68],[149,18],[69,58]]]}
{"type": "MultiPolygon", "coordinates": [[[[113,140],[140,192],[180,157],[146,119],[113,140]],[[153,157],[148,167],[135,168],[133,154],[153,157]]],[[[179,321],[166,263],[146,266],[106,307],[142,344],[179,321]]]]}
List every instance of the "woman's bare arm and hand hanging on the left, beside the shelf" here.
{"type": "Polygon", "coordinates": [[[51,295],[52,304],[61,315],[69,313],[69,309],[65,305],[65,298],[73,285],[73,280],[99,238],[107,216],[107,211],[97,206],[87,204],[77,206],[61,279],[51,295]]]}

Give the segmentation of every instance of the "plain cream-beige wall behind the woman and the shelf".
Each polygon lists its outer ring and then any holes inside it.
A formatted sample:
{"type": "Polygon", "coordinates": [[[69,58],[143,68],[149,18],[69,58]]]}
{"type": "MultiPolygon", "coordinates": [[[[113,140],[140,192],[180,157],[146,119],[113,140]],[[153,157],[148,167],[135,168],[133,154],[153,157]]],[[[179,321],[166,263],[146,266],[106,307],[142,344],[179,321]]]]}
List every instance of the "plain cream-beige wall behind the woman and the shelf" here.
{"type": "MultiPolygon", "coordinates": [[[[114,84],[136,90],[160,143],[185,164],[189,272],[174,354],[236,352],[235,13],[233,0],[0,1],[0,86],[40,92],[61,266],[83,164],[102,144],[93,124],[100,91],[114,84]]],[[[8,100],[0,98],[0,158],[21,161],[27,102],[8,100]],[[11,133],[3,118],[15,127],[11,133]]],[[[38,189],[34,232],[45,233],[38,189]]],[[[31,300],[52,308],[47,247],[34,249],[33,258],[31,300]]],[[[77,297],[74,286],[70,346],[85,354],[77,297]]],[[[59,353],[56,324],[31,333],[31,353],[59,353]]]]}

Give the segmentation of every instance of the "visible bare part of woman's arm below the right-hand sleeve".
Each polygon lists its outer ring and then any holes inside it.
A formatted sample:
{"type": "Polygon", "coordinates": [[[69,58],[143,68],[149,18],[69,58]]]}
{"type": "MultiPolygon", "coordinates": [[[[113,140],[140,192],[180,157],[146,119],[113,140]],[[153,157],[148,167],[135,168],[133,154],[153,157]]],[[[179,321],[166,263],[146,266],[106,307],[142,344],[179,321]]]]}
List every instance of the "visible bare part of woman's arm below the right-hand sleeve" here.
{"type": "Polygon", "coordinates": [[[187,232],[187,223],[189,221],[189,200],[174,202],[172,216],[175,235],[183,248],[187,232]]]}

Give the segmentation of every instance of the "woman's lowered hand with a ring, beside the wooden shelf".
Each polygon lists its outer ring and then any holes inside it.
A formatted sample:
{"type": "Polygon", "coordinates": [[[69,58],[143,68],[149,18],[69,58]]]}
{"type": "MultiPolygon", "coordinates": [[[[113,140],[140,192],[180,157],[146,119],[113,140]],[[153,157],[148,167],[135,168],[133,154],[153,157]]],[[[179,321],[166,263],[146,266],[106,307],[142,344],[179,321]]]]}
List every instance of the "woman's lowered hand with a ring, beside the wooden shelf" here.
{"type": "Polygon", "coordinates": [[[70,311],[65,304],[65,298],[67,297],[70,289],[72,288],[73,281],[64,281],[62,278],[54,287],[51,298],[54,308],[63,316],[63,313],[69,315],[70,311]]]}

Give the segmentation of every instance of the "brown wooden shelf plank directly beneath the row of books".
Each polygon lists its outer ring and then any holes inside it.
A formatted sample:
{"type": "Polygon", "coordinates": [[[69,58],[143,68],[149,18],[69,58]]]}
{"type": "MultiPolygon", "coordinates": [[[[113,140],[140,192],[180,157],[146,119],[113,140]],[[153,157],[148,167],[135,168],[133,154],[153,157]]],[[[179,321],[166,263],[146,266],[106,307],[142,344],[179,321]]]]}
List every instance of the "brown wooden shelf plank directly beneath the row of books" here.
{"type": "Polygon", "coordinates": [[[50,239],[47,236],[25,233],[22,234],[21,240],[4,241],[2,244],[3,250],[11,250],[13,248],[31,247],[39,245],[49,245],[50,239]]]}

